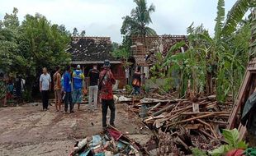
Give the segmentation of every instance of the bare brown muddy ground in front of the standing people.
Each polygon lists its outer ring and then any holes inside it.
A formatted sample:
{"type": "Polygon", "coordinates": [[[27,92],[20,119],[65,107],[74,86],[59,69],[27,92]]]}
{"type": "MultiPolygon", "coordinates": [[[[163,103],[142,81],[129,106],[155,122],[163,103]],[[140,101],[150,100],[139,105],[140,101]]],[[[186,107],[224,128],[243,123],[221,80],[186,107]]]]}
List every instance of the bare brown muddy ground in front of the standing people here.
{"type": "MultiPolygon", "coordinates": [[[[102,131],[100,108],[88,112],[87,107],[73,114],[55,112],[54,106],[42,112],[33,104],[0,108],[0,155],[69,155],[76,140],[102,131]]],[[[116,104],[116,128],[141,145],[152,135],[123,104],[116,104]]]]}

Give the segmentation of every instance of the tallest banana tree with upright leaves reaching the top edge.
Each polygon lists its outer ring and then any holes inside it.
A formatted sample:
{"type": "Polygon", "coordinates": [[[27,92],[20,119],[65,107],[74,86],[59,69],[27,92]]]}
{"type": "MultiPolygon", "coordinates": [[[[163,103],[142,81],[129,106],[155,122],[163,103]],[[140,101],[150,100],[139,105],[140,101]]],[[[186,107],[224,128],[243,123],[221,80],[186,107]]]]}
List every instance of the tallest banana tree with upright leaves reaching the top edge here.
{"type": "Polygon", "coordinates": [[[242,20],[245,13],[249,10],[249,7],[249,0],[238,0],[235,2],[235,5],[231,8],[225,19],[225,1],[218,1],[218,11],[215,20],[215,36],[212,39],[207,39],[207,41],[210,41],[208,42],[210,53],[206,56],[208,65],[206,80],[207,85],[210,85],[210,87],[208,87],[210,88],[210,94],[212,94],[214,91],[213,89],[216,88],[216,94],[219,101],[225,99],[225,95],[232,89],[231,84],[234,83],[234,75],[229,74],[229,72],[227,72],[228,69],[231,68],[233,70],[235,64],[238,64],[239,66],[239,61],[236,59],[235,49],[232,49],[227,44],[227,39],[232,38],[235,30],[237,30],[239,21],[242,20]],[[213,86],[212,84],[215,84],[215,79],[212,78],[215,74],[216,86],[213,86]],[[229,82],[230,76],[232,76],[231,83],[229,82]]]}

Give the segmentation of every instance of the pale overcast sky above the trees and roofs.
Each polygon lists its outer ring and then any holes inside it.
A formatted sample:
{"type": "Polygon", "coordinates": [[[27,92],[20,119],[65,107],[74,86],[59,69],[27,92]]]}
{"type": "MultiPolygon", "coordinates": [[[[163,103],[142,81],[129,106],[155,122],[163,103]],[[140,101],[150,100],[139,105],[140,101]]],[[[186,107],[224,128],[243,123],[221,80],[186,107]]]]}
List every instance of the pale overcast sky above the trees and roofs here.
{"type": "MultiPolygon", "coordinates": [[[[226,12],[236,0],[225,0],[226,12]]],[[[156,7],[151,26],[158,34],[186,34],[187,26],[201,23],[212,34],[217,0],[148,0],[156,7]]],[[[86,30],[87,35],[110,36],[121,43],[121,17],[130,15],[132,0],[0,0],[0,20],[13,7],[19,10],[20,21],[36,12],[53,24],[64,24],[68,30],[86,30]]]]}

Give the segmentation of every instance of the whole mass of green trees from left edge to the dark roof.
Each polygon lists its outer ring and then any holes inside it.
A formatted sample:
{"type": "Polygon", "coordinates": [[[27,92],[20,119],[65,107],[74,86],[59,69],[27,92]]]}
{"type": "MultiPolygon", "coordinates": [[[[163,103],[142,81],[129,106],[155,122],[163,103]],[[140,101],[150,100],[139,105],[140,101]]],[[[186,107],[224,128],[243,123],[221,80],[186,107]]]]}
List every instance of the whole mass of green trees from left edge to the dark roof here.
{"type": "Polygon", "coordinates": [[[53,71],[57,65],[71,61],[65,50],[70,43],[69,31],[64,25],[51,25],[45,16],[26,15],[19,25],[17,9],[6,14],[0,29],[0,68],[21,74],[26,79],[26,99],[30,99],[32,85],[42,67],[53,71]]]}

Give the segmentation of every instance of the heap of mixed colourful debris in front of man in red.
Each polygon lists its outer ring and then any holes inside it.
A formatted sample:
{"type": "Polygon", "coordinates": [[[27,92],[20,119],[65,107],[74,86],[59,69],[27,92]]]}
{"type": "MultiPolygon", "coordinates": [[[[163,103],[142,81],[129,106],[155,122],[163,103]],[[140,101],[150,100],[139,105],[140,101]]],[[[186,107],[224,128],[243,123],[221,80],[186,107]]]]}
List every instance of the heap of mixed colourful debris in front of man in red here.
{"type": "Polygon", "coordinates": [[[138,143],[130,140],[121,131],[109,126],[101,135],[88,136],[74,145],[69,156],[107,156],[148,154],[138,143]]]}

